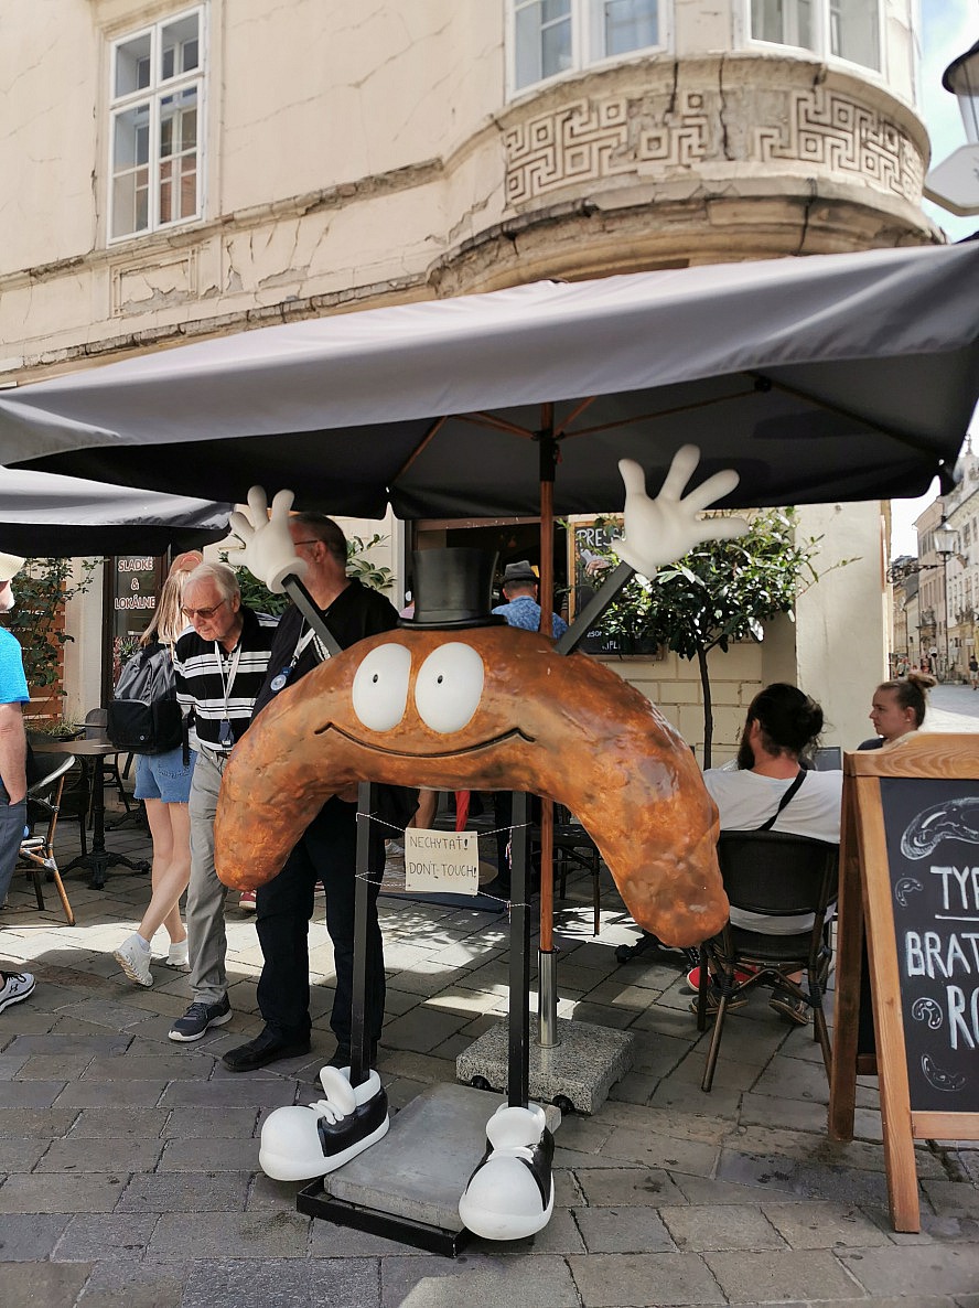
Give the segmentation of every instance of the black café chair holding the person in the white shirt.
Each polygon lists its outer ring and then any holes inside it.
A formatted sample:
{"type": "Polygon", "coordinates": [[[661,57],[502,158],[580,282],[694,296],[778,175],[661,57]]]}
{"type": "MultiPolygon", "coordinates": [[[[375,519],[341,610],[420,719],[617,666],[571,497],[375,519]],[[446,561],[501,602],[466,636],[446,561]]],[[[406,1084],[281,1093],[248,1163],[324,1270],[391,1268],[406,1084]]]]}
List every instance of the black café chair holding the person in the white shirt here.
{"type": "Polygon", "coordinates": [[[718,861],[732,908],[767,917],[812,914],[814,923],[812,930],[792,935],[763,935],[728,921],[719,935],[701,946],[698,1031],[707,1028],[711,985],[718,995],[701,1088],[708,1091],[714,1082],[728,1007],[758,986],[783,990],[812,1008],[813,1039],[820,1042],[829,1076],[831,1052],[822,998],[833,954],[830,921],[838,893],[839,845],[775,831],[723,831],[718,861]],[[808,990],[789,980],[793,972],[805,973],[808,990]]]}

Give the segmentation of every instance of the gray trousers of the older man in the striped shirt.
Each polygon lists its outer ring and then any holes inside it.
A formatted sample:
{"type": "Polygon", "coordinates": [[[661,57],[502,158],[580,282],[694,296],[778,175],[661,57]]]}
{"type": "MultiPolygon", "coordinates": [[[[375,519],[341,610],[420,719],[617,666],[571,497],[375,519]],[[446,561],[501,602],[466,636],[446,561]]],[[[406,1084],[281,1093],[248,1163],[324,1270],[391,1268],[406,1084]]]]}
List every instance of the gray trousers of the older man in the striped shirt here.
{"type": "Polygon", "coordinates": [[[197,753],[187,807],[191,819],[191,884],[187,887],[187,940],[191,985],[199,1003],[220,1003],[227,994],[225,897],[227,887],[214,871],[214,814],[221,769],[197,753]]]}

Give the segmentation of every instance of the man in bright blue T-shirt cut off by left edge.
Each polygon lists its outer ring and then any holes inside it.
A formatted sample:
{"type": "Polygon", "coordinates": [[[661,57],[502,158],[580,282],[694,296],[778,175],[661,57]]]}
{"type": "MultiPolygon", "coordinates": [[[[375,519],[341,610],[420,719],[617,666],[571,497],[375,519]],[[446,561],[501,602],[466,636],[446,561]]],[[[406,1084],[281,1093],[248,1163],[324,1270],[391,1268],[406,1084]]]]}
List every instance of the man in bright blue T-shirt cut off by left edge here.
{"type": "MultiPolygon", "coordinates": [[[[0,613],[13,608],[10,582],[22,566],[16,555],[0,555],[0,613]]],[[[20,641],[0,627],[0,904],[10,888],[27,820],[27,739],[21,705],[29,702],[20,641]]],[[[0,1012],[26,999],[34,986],[30,972],[0,971],[0,1012]]]]}

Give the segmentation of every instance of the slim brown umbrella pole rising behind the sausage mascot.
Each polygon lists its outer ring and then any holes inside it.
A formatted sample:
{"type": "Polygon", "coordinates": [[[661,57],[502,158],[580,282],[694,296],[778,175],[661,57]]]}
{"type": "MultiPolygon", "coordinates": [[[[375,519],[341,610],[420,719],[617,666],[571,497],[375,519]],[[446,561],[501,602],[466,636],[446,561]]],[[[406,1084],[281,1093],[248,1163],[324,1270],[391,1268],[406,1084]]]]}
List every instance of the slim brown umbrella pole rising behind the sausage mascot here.
{"type": "MultiPolygon", "coordinates": [[[[554,612],[554,468],[557,441],[554,439],[554,408],[544,405],[545,429],[539,433],[541,479],[541,574],[540,574],[540,629],[553,634],[554,612]]],[[[554,951],[554,806],[541,800],[541,918],[540,951],[537,959],[537,1027],[539,1042],[545,1049],[558,1044],[557,1033],[557,955],[554,951]]]]}

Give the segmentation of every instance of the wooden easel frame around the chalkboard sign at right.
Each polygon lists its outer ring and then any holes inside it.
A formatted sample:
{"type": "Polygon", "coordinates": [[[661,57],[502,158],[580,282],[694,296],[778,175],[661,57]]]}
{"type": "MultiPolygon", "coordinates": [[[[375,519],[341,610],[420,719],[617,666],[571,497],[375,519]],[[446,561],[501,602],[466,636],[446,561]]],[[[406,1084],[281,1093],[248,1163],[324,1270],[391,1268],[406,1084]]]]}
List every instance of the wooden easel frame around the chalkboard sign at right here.
{"type": "Polygon", "coordinates": [[[921,732],[891,749],[843,757],[839,931],[829,1133],[854,1138],[856,1078],[877,1075],[888,1197],[895,1231],[919,1231],[916,1139],[979,1139],[979,1113],[912,1112],[901,1011],[881,777],[979,781],[979,738],[921,732]],[[876,1054],[857,1050],[867,940],[876,1054]]]}

